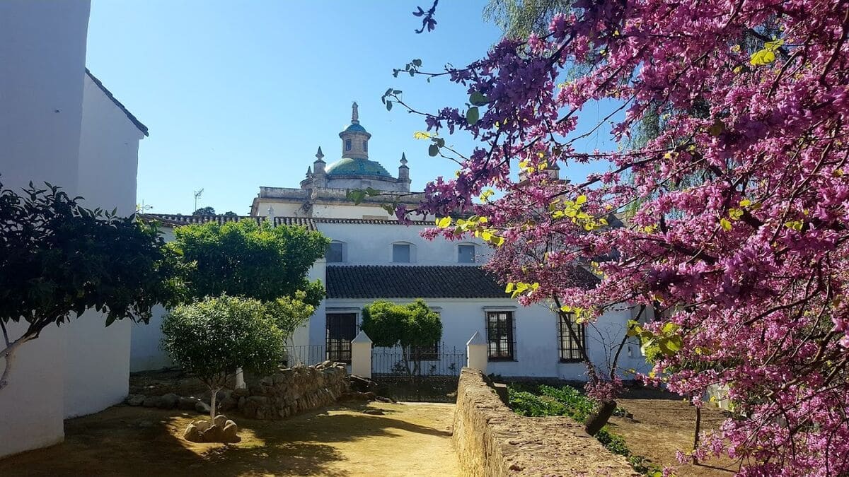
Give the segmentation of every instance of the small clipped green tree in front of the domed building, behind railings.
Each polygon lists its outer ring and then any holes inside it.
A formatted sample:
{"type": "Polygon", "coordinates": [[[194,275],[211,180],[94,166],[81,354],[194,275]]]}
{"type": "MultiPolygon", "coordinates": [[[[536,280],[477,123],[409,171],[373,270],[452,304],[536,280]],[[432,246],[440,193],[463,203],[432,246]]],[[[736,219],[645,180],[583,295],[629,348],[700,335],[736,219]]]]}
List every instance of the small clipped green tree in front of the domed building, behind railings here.
{"type": "Polygon", "coordinates": [[[416,348],[433,346],[442,338],[439,313],[421,299],[408,305],[376,300],[363,308],[362,328],[375,346],[400,346],[404,368],[411,375],[418,375],[421,369],[416,348]]]}

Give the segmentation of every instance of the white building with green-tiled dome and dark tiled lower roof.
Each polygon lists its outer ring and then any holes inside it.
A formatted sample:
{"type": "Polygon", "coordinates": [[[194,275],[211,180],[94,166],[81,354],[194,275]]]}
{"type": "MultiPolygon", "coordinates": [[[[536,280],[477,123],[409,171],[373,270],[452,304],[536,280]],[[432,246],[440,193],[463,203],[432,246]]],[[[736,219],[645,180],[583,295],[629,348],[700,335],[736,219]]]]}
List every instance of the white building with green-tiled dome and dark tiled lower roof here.
{"type": "MultiPolygon", "coordinates": [[[[327,255],[310,273],[311,278],[322,280],[328,295],[309,325],[295,335],[302,359],[348,360],[350,341],[358,332],[363,306],[378,299],[403,303],[423,298],[441,314],[444,331],[440,351],[454,348],[464,351],[466,341],[478,333],[488,344],[489,373],[583,378],[585,367],[580,362],[576,343],[563,323],[559,323],[558,315],[547,306],[519,306],[504,293],[502,284],[481,269],[489,253],[486,244],[477,239],[428,241],[420,234],[425,228],[433,227],[433,222],[412,225],[396,222],[394,216],[381,208],[384,197],[369,197],[360,205],[346,199],[347,192],[354,188],[374,188],[411,205],[420,196],[409,193],[406,158],[402,156],[397,177],[392,177],[380,163],[368,159],[371,135],[359,122],[356,104],[351,125],[339,136],[340,160],[326,165],[319,148],[301,188],[261,187],[251,205],[253,220],[307,227],[332,240],[327,255]]],[[[150,217],[157,218],[165,227],[245,218],[150,217]]],[[[596,280],[581,267],[576,267],[575,273],[587,286],[596,280]]],[[[610,350],[620,343],[631,317],[631,311],[623,307],[621,311],[607,313],[588,328],[582,339],[593,361],[604,365],[610,359],[610,350]]],[[[159,338],[158,326],[157,321],[147,328],[135,328],[133,370],[168,363],[153,340],[159,338]]],[[[638,368],[644,363],[636,342],[627,345],[620,359],[621,368],[638,368]]]]}

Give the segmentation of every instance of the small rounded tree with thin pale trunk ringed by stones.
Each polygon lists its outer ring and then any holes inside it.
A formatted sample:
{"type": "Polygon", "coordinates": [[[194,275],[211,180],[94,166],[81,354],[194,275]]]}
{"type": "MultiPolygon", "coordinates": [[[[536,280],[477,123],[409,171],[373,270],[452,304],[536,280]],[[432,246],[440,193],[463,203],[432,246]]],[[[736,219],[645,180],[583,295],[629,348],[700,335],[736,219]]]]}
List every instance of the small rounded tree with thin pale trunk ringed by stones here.
{"type": "Polygon", "coordinates": [[[236,368],[267,373],[284,351],[284,333],[266,306],[227,295],[177,306],[163,318],[162,334],[162,348],[174,362],[209,386],[211,419],[216,394],[236,368]]]}

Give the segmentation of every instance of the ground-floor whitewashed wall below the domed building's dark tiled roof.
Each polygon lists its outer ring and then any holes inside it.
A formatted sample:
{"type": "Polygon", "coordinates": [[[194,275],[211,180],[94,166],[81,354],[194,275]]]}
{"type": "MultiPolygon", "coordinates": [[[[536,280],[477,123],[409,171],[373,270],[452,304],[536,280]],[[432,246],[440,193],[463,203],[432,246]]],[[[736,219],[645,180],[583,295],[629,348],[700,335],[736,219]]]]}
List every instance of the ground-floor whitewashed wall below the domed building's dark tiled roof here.
{"type": "MultiPolygon", "coordinates": [[[[409,299],[388,299],[396,303],[408,303],[409,299]]],[[[328,309],[350,309],[357,311],[357,321],[362,319],[363,306],[373,300],[327,300],[328,309]]],[[[486,311],[505,310],[514,313],[515,361],[489,362],[487,373],[513,377],[547,377],[570,380],[586,379],[586,367],[580,363],[559,362],[557,317],[547,306],[520,306],[511,299],[425,299],[431,307],[440,311],[442,321],[443,350],[457,348],[464,351],[466,342],[473,334],[480,333],[486,339],[486,311]]],[[[618,345],[630,319],[630,311],[613,311],[600,317],[587,328],[588,354],[599,367],[610,362],[610,347],[618,345]]],[[[312,345],[323,345],[323,316],[313,317],[312,345]]],[[[645,369],[644,358],[639,356],[638,345],[630,343],[623,350],[620,369],[645,369]],[[627,348],[631,348],[629,355],[627,348]]]]}

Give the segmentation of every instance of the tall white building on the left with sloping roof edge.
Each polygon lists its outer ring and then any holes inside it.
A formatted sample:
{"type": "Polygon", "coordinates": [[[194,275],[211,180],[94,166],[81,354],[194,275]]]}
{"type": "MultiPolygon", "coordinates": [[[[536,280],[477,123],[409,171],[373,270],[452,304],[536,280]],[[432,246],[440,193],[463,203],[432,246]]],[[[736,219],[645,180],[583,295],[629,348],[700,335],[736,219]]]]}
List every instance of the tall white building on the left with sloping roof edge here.
{"type": "MultiPolygon", "coordinates": [[[[0,182],[51,182],[130,215],[147,128],[86,70],[88,13],[87,0],[0,2],[0,182]]],[[[0,390],[0,457],[62,441],[65,418],[127,396],[130,323],[104,322],[87,311],[21,346],[0,390]]]]}

